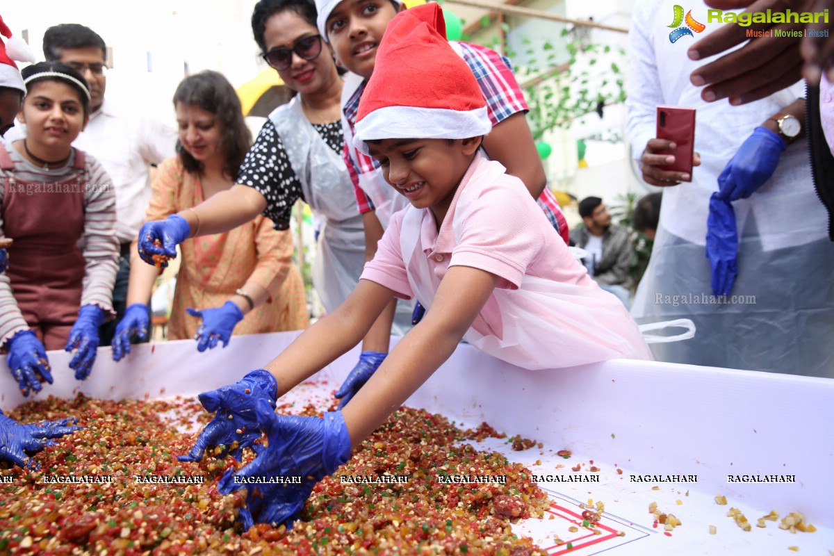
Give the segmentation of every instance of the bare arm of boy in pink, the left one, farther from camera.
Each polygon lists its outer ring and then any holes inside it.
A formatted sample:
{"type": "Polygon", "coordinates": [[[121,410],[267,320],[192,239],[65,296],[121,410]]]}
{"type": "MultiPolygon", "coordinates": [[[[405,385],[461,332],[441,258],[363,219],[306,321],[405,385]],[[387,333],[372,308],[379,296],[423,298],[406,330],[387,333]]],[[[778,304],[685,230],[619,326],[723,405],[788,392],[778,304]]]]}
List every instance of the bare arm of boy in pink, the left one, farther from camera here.
{"type": "Polygon", "coordinates": [[[278,395],[353,348],[379,313],[394,298],[394,292],[369,280],[359,280],[344,303],[308,328],[266,368],[278,381],[278,395]]]}

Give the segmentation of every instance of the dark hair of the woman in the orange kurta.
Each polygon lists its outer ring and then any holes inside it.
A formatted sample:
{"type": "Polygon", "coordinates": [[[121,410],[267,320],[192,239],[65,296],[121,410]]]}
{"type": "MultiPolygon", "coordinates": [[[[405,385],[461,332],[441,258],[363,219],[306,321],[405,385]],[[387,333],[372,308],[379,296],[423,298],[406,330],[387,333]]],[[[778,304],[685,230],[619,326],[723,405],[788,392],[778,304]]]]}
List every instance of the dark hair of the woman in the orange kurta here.
{"type": "MultiPolygon", "coordinates": [[[[238,93],[234,92],[229,80],[210,69],[195,73],[179,83],[176,93],[173,93],[173,103],[174,106],[177,103],[193,104],[217,116],[221,126],[220,144],[226,155],[223,172],[232,179],[237,178],[240,165],[252,144],[252,133],[244,121],[238,93]]],[[[186,172],[203,171],[203,163],[195,160],[179,139],[177,153],[186,172]]]]}

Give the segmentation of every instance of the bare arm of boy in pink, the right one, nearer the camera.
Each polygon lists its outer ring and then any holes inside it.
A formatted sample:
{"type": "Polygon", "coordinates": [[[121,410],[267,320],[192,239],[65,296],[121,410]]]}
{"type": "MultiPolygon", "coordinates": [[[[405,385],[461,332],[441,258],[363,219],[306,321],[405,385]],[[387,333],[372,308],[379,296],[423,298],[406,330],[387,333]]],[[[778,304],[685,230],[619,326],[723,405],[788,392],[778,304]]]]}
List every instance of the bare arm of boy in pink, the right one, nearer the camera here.
{"type": "Polygon", "coordinates": [[[342,410],[354,448],[450,358],[490,298],[496,280],[494,274],[478,268],[449,269],[425,318],[342,410]]]}

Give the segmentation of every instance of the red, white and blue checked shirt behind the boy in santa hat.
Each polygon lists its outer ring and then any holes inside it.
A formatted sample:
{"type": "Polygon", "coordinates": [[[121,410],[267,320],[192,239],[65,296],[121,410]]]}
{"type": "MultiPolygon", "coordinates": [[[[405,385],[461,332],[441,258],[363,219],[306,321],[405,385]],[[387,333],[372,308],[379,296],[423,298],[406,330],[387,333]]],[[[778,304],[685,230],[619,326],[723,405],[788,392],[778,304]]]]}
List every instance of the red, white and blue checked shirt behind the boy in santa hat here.
{"type": "MultiPolygon", "coordinates": [[[[455,51],[460,54],[465,63],[470,67],[475,78],[478,80],[481,93],[486,100],[486,111],[493,127],[510,118],[515,113],[527,112],[527,102],[524,93],[521,92],[515,74],[512,70],[510,59],[496,53],[491,48],[482,47],[470,43],[452,43],[455,51]]],[[[351,132],[355,133],[356,115],[359,112],[359,99],[362,98],[366,83],[359,85],[353,95],[342,107],[344,119],[348,123],[351,132]]],[[[348,167],[350,180],[354,184],[356,202],[359,205],[359,213],[368,213],[374,210],[374,203],[359,186],[359,174],[379,172],[379,163],[374,158],[356,151],[358,160],[350,156],[347,145],[344,147],[344,163],[348,167]]],[[[545,216],[557,232],[559,232],[565,243],[568,243],[568,225],[565,215],[559,207],[550,189],[545,190],[539,196],[537,203],[545,216]]]]}

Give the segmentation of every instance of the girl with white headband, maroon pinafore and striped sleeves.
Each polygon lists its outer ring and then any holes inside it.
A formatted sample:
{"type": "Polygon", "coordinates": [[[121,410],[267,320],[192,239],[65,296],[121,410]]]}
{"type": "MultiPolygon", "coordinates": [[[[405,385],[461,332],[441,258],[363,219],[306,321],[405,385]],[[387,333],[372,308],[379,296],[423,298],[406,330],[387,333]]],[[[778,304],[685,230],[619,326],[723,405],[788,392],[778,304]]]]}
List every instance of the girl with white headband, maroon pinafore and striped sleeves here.
{"type": "Polygon", "coordinates": [[[48,349],[77,349],[69,366],[88,377],[98,326],[115,315],[118,242],[110,178],[72,146],[90,112],[83,76],[45,62],[21,74],[26,137],[0,143],[0,236],[15,240],[0,275],[0,348],[27,395],[53,382],[48,349]]]}

